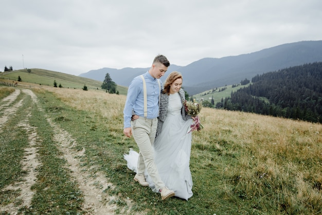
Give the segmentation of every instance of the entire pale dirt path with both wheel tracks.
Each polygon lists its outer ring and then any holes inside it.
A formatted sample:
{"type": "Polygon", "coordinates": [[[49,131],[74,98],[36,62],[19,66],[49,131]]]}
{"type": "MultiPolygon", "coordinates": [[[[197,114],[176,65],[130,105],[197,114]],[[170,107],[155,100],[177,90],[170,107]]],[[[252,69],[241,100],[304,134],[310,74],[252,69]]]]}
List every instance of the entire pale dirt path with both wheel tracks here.
{"type": "MultiPolygon", "coordinates": [[[[0,117],[0,132],[2,126],[7,122],[7,120],[13,116],[19,107],[22,105],[23,100],[16,102],[13,106],[8,108],[8,106],[14,102],[17,97],[23,92],[31,97],[34,104],[38,103],[37,96],[29,89],[16,89],[14,93],[4,98],[0,106],[0,112],[3,116],[0,117]]],[[[40,109],[40,111],[42,111],[40,109]]],[[[35,147],[38,142],[42,141],[37,136],[37,128],[30,126],[29,118],[32,117],[31,113],[27,110],[26,116],[23,121],[21,121],[17,126],[26,130],[28,134],[29,146],[25,149],[25,155],[22,159],[23,170],[27,172],[25,178],[21,182],[9,185],[5,187],[2,191],[6,190],[21,190],[19,199],[22,201],[22,205],[30,207],[31,199],[33,196],[33,191],[31,186],[37,182],[37,172],[34,170],[41,165],[38,160],[38,149],[35,147]]],[[[110,196],[105,192],[106,188],[113,188],[113,184],[109,183],[107,178],[100,172],[93,172],[90,169],[84,169],[81,167],[80,157],[85,153],[85,149],[77,152],[75,146],[77,146],[77,141],[71,137],[71,135],[65,130],[61,129],[56,123],[54,123],[49,117],[46,119],[50,126],[52,127],[55,135],[54,140],[57,141],[58,149],[63,153],[63,157],[67,160],[67,168],[70,169],[71,177],[79,185],[79,189],[83,193],[84,203],[83,211],[87,214],[114,214],[116,209],[121,209],[120,213],[129,213],[131,209],[131,201],[127,201],[127,208],[117,208],[116,204],[111,204],[116,196],[110,196]]],[[[0,207],[0,211],[7,211],[10,214],[17,214],[19,208],[13,203],[5,207],[0,207]]]]}

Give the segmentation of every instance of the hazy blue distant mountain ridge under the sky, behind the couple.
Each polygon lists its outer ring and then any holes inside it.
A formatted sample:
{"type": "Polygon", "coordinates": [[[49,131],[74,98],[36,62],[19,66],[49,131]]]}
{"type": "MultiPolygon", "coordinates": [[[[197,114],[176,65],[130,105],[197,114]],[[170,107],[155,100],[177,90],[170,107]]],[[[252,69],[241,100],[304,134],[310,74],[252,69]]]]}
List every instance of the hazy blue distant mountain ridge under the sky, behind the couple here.
{"type": "MultiPolygon", "coordinates": [[[[168,71],[177,70],[183,74],[183,87],[194,95],[214,87],[240,83],[258,74],[291,66],[322,61],[322,41],[300,41],[265,48],[252,53],[223,58],[203,58],[186,66],[171,64],[168,71]]],[[[170,60],[171,62],[171,60],[170,60]]],[[[132,79],[147,71],[147,68],[101,68],[80,74],[81,77],[103,81],[106,73],[122,86],[128,86],[132,79]]],[[[167,77],[161,80],[164,81],[167,77]]]]}

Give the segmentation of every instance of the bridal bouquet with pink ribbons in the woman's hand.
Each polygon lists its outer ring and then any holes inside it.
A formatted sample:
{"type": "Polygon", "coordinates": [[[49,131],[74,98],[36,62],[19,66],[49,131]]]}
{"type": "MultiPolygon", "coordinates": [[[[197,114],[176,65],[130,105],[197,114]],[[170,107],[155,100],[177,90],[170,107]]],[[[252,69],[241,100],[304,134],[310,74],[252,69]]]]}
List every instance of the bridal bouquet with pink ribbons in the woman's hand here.
{"type": "Polygon", "coordinates": [[[202,108],[202,102],[197,103],[195,102],[195,100],[193,99],[193,101],[184,101],[184,105],[185,105],[185,110],[186,113],[192,117],[194,117],[193,119],[193,123],[190,126],[190,130],[188,131],[188,133],[192,132],[192,131],[200,131],[202,130],[204,127],[202,126],[202,124],[200,123],[200,119],[198,117],[201,108],[202,108]]]}

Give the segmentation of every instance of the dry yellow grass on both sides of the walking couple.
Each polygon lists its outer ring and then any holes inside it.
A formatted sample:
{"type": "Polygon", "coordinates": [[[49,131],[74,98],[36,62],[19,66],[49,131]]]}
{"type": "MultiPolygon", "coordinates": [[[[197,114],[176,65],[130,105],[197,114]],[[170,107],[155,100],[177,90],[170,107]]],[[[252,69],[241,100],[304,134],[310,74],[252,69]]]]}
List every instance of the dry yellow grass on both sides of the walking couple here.
{"type": "MultiPolygon", "coordinates": [[[[98,114],[106,126],[123,127],[126,96],[81,89],[48,90],[77,110],[98,114]]],[[[222,185],[226,196],[237,189],[247,199],[257,196],[264,202],[270,198],[272,204],[283,202],[288,207],[322,202],[321,124],[209,108],[202,109],[200,119],[204,129],[192,135],[191,158],[213,157],[211,150],[234,157],[235,165],[220,170],[223,177],[236,178],[232,182],[236,187],[231,187],[231,182],[222,185]]],[[[208,165],[213,165],[211,160],[198,163],[199,167],[208,165]]]]}

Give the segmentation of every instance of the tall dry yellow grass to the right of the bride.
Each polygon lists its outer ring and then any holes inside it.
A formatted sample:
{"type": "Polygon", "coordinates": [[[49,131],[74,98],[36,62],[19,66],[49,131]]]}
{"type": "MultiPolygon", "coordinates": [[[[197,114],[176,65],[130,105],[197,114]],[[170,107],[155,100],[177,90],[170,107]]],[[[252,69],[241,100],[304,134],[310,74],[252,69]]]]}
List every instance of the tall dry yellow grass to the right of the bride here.
{"type": "Polygon", "coordinates": [[[231,177],[238,175],[239,189],[247,198],[260,196],[264,187],[272,186],[272,198],[282,192],[292,207],[322,202],[321,124],[207,108],[201,120],[205,129],[193,136],[194,143],[211,145],[214,138],[239,147],[239,165],[226,171],[231,177]],[[297,190],[296,195],[290,187],[297,190]]]}

